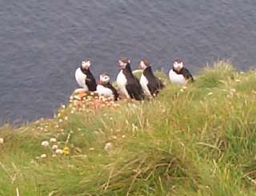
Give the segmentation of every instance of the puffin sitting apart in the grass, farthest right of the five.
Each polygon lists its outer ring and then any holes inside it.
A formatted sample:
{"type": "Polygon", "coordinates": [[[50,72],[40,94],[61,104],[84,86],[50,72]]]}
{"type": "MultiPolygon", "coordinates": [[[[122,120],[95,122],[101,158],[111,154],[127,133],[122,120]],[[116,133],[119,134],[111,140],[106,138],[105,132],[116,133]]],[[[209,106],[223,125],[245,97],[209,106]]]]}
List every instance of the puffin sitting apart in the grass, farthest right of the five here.
{"type": "Polygon", "coordinates": [[[174,61],[173,68],[169,72],[170,82],[174,84],[186,84],[188,80],[194,81],[190,71],[183,67],[183,62],[179,59],[174,61]]]}

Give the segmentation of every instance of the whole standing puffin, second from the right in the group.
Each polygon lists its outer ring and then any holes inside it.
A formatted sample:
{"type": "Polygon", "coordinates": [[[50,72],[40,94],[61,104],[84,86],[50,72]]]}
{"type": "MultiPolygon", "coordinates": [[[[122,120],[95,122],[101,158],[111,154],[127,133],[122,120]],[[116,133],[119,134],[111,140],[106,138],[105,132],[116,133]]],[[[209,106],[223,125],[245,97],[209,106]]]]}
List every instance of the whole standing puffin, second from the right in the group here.
{"type": "Polygon", "coordinates": [[[162,81],[154,76],[150,61],[142,59],[138,62],[138,68],[143,70],[139,82],[142,85],[142,89],[146,93],[146,96],[157,96],[158,92],[164,88],[164,84],[162,84],[162,81]]]}

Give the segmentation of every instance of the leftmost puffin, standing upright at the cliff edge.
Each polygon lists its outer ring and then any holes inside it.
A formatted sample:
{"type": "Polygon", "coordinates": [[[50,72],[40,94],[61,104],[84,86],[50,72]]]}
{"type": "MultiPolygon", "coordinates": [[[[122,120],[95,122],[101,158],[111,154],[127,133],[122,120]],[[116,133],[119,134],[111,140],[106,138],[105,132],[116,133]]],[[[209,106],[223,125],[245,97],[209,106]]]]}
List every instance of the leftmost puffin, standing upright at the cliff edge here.
{"type": "Polygon", "coordinates": [[[86,92],[96,91],[96,80],[94,75],[90,73],[90,60],[82,61],[81,66],[75,72],[75,80],[86,92]]]}

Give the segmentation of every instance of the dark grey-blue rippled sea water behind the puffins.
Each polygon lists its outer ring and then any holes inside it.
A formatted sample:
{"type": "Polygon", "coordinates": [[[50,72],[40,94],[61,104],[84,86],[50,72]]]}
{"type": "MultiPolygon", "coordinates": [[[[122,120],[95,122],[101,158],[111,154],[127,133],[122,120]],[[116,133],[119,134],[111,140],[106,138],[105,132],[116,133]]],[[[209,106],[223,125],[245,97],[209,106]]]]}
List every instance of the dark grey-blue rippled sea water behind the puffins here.
{"type": "Polygon", "coordinates": [[[118,73],[118,57],[192,73],[229,59],[256,64],[255,0],[0,0],[0,123],[48,117],[77,87],[74,71],[118,73]]]}

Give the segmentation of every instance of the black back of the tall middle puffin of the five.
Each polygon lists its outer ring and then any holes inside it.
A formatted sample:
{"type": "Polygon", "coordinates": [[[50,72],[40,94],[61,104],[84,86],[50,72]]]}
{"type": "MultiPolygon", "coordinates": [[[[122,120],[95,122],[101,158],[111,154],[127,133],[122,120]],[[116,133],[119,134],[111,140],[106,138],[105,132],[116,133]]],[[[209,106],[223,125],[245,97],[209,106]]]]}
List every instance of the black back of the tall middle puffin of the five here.
{"type": "Polygon", "coordinates": [[[139,84],[138,78],[134,76],[130,69],[130,64],[126,65],[125,69],[122,69],[123,74],[126,76],[127,84],[126,90],[130,96],[135,100],[143,100],[144,94],[142,91],[142,86],[139,84]]]}

